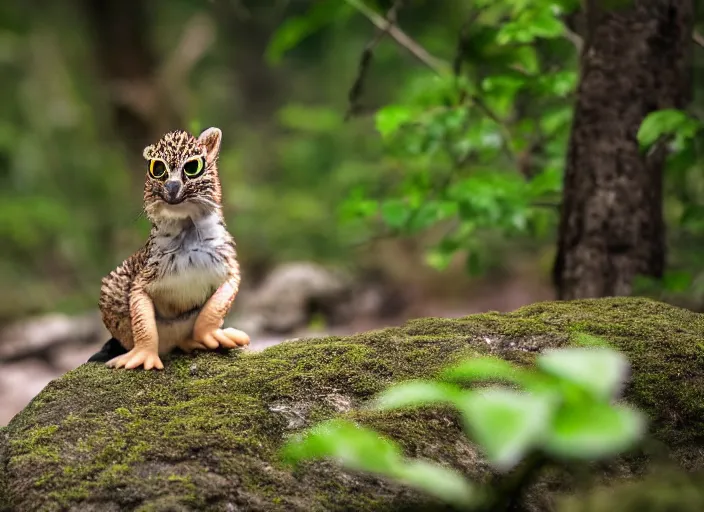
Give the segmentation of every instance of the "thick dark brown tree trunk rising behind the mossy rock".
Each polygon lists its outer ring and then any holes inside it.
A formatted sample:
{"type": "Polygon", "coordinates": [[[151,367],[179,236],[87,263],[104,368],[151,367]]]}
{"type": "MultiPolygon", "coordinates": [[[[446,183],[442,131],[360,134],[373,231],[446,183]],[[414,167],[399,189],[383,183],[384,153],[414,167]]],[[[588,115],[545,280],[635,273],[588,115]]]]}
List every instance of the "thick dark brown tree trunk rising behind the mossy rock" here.
{"type": "Polygon", "coordinates": [[[690,98],[691,0],[587,0],[553,280],[560,299],[629,295],[665,265],[667,150],[639,150],[648,113],[690,98]],[[612,3],[612,2],[610,2],[612,3]]]}

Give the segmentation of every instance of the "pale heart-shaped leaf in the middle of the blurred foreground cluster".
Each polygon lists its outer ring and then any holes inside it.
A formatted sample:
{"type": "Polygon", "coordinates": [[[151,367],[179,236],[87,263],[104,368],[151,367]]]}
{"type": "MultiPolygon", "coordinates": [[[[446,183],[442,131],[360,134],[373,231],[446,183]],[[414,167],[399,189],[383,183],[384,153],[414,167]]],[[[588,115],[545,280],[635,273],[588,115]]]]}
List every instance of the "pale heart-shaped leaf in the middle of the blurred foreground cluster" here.
{"type": "Polygon", "coordinates": [[[461,404],[472,438],[500,471],[513,468],[542,442],[550,429],[553,407],[547,395],[502,388],[468,393],[461,404]]]}

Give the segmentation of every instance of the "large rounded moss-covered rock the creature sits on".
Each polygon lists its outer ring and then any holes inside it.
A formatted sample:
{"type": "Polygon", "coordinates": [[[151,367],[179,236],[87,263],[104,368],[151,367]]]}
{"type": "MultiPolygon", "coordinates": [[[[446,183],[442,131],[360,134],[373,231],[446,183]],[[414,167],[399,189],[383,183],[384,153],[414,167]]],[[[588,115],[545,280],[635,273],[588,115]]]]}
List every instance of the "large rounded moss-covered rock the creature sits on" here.
{"type": "MultiPolygon", "coordinates": [[[[578,333],[627,354],[627,399],[649,413],[671,460],[704,468],[704,317],[647,299],[546,302],[260,353],[174,356],[162,372],[85,364],[0,429],[0,510],[437,510],[409,489],[329,462],[292,472],[278,449],[292,432],[347,414],[410,456],[484,481],[487,466],[453,411],[382,414],[360,406],[392,382],[432,377],[471,355],[529,364],[578,333]]],[[[647,458],[640,452],[599,471],[633,477],[647,458]]],[[[544,478],[527,493],[527,508],[561,508],[566,482],[544,478]]]]}

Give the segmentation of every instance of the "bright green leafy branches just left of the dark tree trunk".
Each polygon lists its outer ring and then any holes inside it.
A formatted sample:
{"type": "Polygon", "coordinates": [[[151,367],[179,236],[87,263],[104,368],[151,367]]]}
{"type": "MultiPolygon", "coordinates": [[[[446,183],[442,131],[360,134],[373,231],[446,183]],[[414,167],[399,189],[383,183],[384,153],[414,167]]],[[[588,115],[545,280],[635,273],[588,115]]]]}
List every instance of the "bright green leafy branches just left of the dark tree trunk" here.
{"type": "Polygon", "coordinates": [[[463,251],[471,274],[483,272],[491,259],[485,234],[549,235],[577,82],[575,55],[562,56],[559,17],[573,7],[476,4],[477,22],[465,35],[466,72],[420,75],[377,111],[390,165],[404,172],[382,190],[356,189],[342,220],[364,220],[394,235],[442,226],[445,235],[428,249],[427,263],[442,270],[463,251]],[[553,48],[539,50],[548,40],[553,48]],[[543,64],[557,52],[567,68],[543,64]]]}

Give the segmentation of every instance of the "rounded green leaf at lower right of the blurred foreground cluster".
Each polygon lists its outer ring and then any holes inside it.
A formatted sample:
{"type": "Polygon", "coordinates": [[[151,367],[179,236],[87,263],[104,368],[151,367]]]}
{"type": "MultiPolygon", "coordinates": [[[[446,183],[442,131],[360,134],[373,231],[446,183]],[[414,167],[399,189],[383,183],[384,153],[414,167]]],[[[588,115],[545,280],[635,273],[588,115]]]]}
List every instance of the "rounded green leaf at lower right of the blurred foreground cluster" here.
{"type": "Polygon", "coordinates": [[[609,457],[633,446],[645,425],[645,417],[626,406],[587,402],[565,407],[555,417],[545,449],[558,457],[609,457]]]}

